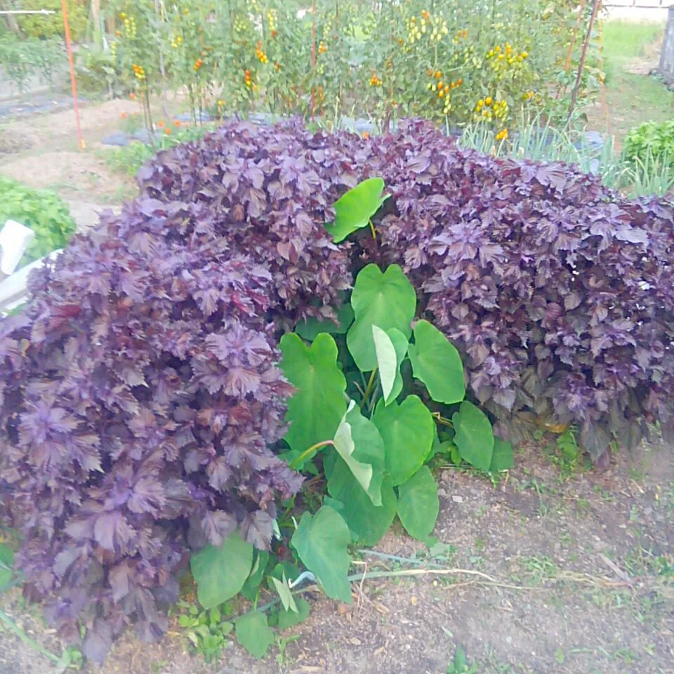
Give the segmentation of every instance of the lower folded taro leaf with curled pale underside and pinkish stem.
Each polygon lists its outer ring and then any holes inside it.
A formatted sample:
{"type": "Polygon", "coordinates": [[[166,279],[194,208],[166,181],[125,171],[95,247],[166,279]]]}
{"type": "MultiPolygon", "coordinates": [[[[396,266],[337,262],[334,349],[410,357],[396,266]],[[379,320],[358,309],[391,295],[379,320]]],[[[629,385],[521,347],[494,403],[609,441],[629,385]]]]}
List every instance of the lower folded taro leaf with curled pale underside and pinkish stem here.
{"type": "MultiPolygon", "coordinates": [[[[353,400],[334,437],[342,464],[366,491],[374,505],[381,505],[381,481],[384,476],[384,441],[376,425],[360,414],[353,400]]],[[[329,480],[344,479],[344,471],[332,470],[329,480]]]]}

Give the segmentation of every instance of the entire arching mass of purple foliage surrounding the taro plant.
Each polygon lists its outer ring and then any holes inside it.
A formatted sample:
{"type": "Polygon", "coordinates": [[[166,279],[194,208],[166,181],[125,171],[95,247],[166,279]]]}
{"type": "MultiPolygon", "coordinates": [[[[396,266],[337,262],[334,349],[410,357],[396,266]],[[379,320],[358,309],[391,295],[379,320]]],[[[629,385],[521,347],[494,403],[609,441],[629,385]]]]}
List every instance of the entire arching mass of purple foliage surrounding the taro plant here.
{"type": "Polygon", "coordinates": [[[422,123],[369,140],[232,123],[139,178],[0,322],[0,499],[28,588],[95,659],[127,623],[161,635],[190,546],[237,526],[268,545],[275,496],[299,487],[269,449],[279,331],[333,316],[366,262],[404,266],[501,434],[574,421],[597,459],[673,418],[670,201],[422,123]],[[373,176],[392,194],[378,242],[335,246],[333,202],[373,176]]]}

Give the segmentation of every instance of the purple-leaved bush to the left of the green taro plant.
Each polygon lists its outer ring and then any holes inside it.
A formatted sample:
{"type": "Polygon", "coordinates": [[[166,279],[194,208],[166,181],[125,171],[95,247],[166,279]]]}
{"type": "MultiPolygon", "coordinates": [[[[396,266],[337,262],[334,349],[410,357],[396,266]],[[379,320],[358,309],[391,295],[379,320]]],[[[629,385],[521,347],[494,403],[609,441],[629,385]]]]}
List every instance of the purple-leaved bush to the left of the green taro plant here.
{"type": "Polygon", "coordinates": [[[84,623],[95,659],[128,621],[161,635],[187,539],[217,545],[238,524],[265,548],[275,496],[300,485],[268,449],[291,392],[272,319],[336,304],[351,277],[324,231],[329,190],[288,141],[223,136],[217,204],[196,148],[164,157],[161,180],[204,176],[190,199],[105,217],[0,322],[0,498],[25,539],[18,565],[62,635],[84,623]]]}

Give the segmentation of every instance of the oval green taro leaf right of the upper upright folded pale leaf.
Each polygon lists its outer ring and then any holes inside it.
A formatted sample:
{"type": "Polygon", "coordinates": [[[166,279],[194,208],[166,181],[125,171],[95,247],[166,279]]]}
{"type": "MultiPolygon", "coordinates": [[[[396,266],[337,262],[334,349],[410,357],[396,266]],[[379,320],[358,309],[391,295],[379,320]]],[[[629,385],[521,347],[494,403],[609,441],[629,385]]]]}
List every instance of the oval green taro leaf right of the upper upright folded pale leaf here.
{"type": "Polygon", "coordinates": [[[453,404],[465,397],[461,356],[440,330],[428,321],[414,326],[414,344],[409,345],[412,372],[425,383],[435,402],[453,404]]]}

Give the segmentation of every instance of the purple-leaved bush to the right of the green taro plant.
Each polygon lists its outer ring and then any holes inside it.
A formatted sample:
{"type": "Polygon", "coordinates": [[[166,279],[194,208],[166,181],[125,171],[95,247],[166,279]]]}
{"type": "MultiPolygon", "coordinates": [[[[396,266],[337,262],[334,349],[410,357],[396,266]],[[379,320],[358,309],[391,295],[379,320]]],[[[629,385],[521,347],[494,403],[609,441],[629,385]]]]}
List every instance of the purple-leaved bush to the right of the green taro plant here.
{"type": "Polygon", "coordinates": [[[674,201],[461,151],[421,123],[369,146],[396,206],[383,257],[423,292],[501,435],[522,436],[522,411],[575,422],[600,461],[614,439],[635,447],[647,422],[669,430],[674,201]]]}

